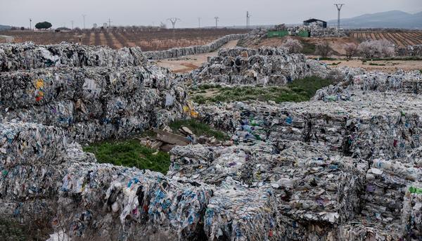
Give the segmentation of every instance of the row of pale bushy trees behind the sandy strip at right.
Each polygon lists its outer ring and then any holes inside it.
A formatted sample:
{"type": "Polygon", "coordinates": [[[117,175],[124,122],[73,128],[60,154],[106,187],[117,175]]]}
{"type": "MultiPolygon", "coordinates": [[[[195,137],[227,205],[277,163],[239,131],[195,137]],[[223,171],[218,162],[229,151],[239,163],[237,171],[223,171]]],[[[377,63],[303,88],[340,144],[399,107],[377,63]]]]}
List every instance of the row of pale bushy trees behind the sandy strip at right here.
{"type": "MultiPolygon", "coordinates": [[[[289,53],[300,53],[303,49],[298,39],[287,39],[282,47],[287,48],[289,53]]],[[[315,46],[315,54],[323,58],[333,53],[328,41],[322,41],[315,46]]],[[[395,46],[386,39],[367,40],[361,44],[347,44],[345,46],[346,58],[351,59],[353,56],[361,56],[363,58],[385,58],[395,55],[395,46]]]]}

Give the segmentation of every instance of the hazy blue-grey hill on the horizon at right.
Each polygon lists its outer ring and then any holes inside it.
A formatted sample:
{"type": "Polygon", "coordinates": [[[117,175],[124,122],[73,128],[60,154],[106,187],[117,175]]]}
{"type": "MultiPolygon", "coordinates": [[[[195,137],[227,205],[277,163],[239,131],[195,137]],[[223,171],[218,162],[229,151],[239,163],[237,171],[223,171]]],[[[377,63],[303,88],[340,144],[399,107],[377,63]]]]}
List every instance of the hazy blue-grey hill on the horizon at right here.
{"type": "MultiPolygon", "coordinates": [[[[407,28],[422,29],[422,12],[405,13],[403,11],[388,11],[383,13],[364,14],[354,18],[344,18],[343,28],[407,28]]],[[[328,25],[336,25],[337,20],[328,21],[328,25]]]]}

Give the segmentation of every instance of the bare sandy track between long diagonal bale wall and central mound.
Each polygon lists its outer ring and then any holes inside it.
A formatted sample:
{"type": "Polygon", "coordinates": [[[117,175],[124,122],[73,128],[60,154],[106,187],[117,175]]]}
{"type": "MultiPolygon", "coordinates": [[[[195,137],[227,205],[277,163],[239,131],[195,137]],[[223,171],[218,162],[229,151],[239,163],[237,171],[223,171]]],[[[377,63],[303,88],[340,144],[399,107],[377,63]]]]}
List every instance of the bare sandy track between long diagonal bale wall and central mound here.
{"type": "MultiPolygon", "coordinates": [[[[222,48],[232,48],[236,46],[238,40],[229,41],[222,48]]],[[[197,69],[200,65],[207,62],[208,57],[217,56],[218,50],[212,53],[202,53],[194,56],[184,56],[177,59],[157,60],[155,63],[161,67],[167,67],[174,73],[186,73],[197,69]]]]}

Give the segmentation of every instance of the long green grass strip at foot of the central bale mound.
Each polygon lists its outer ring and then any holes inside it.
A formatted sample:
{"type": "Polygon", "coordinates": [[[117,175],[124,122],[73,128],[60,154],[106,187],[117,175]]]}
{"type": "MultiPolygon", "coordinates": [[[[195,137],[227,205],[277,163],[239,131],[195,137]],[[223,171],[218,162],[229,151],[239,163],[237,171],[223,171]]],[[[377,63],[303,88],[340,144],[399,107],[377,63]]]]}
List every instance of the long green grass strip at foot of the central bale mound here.
{"type": "Polygon", "coordinates": [[[297,79],[286,86],[234,86],[224,87],[212,97],[197,94],[193,101],[199,104],[207,102],[230,102],[245,100],[273,100],[276,103],[307,101],[314,96],[315,92],[325,86],[333,84],[333,81],[319,77],[307,77],[297,79]]]}

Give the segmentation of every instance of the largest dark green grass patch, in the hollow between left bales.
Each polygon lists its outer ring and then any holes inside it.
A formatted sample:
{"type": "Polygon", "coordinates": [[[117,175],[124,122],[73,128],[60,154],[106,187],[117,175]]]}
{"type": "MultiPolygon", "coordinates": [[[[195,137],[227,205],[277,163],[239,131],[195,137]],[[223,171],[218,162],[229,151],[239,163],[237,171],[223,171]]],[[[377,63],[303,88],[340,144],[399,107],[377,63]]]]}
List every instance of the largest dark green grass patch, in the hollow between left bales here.
{"type": "Polygon", "coordinates": [[[138,140],[103,141],[84,147],[94,153],[100,163],[149,169],[166,174],[170,167],[170,155],[141,145],[138,140]]]}

